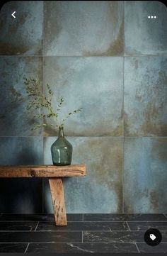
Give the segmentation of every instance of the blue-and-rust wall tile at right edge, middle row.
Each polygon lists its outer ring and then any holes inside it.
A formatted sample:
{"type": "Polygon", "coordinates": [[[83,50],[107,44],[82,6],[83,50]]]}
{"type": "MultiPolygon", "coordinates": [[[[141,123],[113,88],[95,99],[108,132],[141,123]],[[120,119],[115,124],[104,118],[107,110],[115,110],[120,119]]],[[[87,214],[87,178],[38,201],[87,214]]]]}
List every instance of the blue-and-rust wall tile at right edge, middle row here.
{"type": "Polygon", "coordinates": [[[125,57],[125,136],[167,135],[166,77],[166,57],[125,57]]]}

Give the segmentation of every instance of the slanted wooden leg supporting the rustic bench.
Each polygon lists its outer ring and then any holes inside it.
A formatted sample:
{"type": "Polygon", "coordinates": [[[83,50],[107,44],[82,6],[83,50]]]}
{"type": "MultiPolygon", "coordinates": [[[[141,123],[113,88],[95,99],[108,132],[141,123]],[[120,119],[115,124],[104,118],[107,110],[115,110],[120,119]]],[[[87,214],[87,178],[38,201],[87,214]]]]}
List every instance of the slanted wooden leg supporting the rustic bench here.
{"type": "Polygon", "coordinates": [[[64,189],[61,178],[50,178],[50,191],[56,226],[67,226],[67,215],[64,202],[64,189]]]}

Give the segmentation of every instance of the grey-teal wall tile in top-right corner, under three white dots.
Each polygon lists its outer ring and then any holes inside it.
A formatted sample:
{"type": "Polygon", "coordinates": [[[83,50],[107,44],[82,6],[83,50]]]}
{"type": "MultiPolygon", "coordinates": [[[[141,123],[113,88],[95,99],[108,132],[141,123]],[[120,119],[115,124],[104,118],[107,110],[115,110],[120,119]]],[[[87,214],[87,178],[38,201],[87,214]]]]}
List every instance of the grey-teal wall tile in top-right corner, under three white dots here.
{"type": "Polygon", "coordinates": [[[166,54],[166,27],[167,9],[161,1],[125,1],[125,55],[166,54]]]}

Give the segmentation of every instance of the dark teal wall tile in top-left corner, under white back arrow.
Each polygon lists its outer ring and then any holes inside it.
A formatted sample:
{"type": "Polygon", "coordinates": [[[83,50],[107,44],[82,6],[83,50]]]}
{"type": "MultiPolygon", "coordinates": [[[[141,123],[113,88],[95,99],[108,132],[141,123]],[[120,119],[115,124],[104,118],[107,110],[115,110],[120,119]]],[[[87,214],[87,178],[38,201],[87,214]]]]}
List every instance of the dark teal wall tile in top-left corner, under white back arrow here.
{"type": "Polygon", "coordinates": [[[43,1],[9,1],[0,23],[0,55],[42,54],[43,1]]]}

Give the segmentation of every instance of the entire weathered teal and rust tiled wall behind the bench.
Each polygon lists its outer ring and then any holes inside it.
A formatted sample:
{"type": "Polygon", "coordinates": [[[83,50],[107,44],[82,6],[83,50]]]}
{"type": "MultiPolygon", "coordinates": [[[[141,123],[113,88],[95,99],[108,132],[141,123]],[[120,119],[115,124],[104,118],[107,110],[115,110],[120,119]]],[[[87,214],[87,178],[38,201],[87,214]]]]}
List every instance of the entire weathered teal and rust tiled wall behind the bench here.
{"type": "MultiPolygon", "coordinates": [[[[87,167],[86,177],[64,179],[67,212],[166,212],[166,23],[166,6],[159,1],[4,5],[0,165],[52,164],[57,129],[31,131],[33,112],[25,110],[23,76],[33,76],[44,93],[50,84],[54,104],[64,96],[62,114],[84,108],[64,126],[72,163],[87,167]]],[[[0,211],[51,213],[48,181],[1,179],[0,211]]]]}

